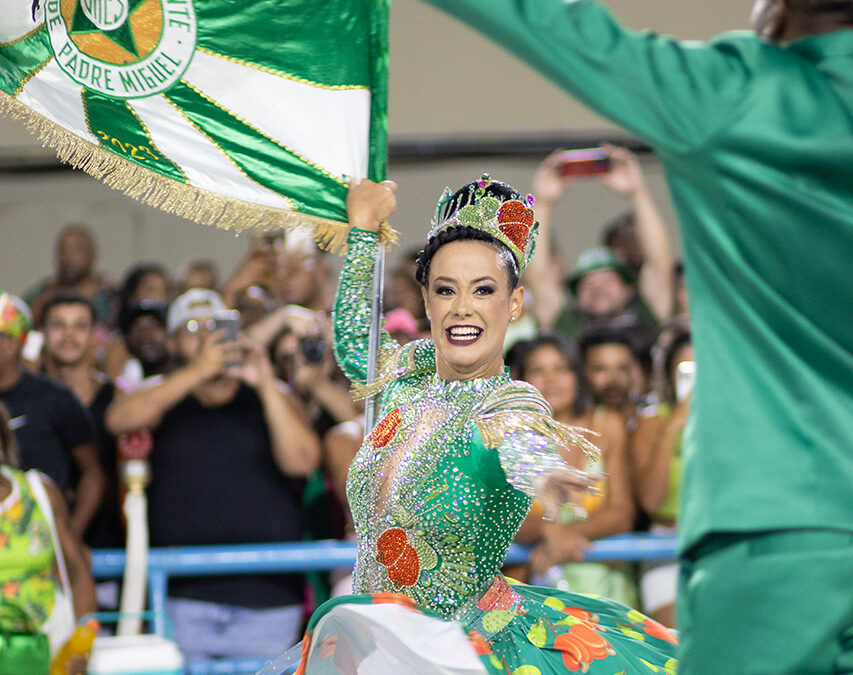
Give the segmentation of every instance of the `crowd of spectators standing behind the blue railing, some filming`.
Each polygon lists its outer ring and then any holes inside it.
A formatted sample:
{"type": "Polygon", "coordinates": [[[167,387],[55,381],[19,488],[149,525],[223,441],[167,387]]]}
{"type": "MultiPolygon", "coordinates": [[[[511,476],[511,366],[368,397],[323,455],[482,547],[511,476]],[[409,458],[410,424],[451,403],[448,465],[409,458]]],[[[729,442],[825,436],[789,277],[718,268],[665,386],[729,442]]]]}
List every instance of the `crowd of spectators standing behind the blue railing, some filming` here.
{"type": "MultiPolygon", "coordinates": [[[[538,252],[507,365],[558,420],[595,434],[599,460],[565,459],[601,478],[585,519],[567,510],[545,522],[534,505],[519,533],[533,546],[530,568],[516,573],[615,597],[673,625],[674,562],[582,562],[594,539],[674,531],[694,373],[667,230],[636,157],[609,153],[611,168],[596,179],[630,207],[610,223],[554,220],[580,180],[562,175],[559,154],[533,179],[538,252]],[[601,228],[601,244],[569,267],[555,231],[590,226],[601,228]]],[[[387,279],[386,328],[400,342],[428,335],[414,258],[404,255],[387,279]]],[[[332,355],[326,255],[299,233],[264,234],[227,279],[205,260],[175,275],[144,263],[118,286],[96,262],[86,227],[65,228],[53,276],[20,293],[36,330],[23,341],[0,326],[0,403],[20,466],[64,494],[73,535],[90,548],[124,545],[117,449],[141,437],[151,446],[153,546],[347,536],[344,483],[363,404],[332,355]]],[[[191,659],[273,656],[297,639],[311,603],[336,582],[346,589],[340,576],[181,579],[168,611],[191,659]]],[[[99,588],[102,607],[115,607],[115,590],[99,588]]]]}

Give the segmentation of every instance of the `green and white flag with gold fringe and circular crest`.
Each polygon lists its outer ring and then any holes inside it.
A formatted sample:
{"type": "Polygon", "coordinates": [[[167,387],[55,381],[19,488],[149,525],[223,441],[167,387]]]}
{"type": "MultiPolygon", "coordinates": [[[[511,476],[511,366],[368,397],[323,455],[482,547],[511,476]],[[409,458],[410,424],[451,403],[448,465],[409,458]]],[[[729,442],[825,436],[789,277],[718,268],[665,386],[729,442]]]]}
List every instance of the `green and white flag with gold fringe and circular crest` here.
{"type": "Polygon", "coordinates": [[[0,108],[166,211],[332,236],[384,178],[388,2],[0,0],[0,108]]]}

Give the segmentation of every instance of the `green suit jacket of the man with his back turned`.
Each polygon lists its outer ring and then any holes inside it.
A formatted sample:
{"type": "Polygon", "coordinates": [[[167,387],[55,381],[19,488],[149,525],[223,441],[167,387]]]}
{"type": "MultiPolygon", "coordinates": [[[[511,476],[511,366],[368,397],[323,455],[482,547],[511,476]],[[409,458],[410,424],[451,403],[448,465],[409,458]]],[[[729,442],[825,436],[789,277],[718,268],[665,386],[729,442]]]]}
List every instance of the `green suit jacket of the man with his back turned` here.
{"type": "Polygon", "coordinates": [[[697,382],[682,549],[853,530],[853,31],[679,42],[591,0],[428,0],[652,145],[682,229],[697,382]]]}

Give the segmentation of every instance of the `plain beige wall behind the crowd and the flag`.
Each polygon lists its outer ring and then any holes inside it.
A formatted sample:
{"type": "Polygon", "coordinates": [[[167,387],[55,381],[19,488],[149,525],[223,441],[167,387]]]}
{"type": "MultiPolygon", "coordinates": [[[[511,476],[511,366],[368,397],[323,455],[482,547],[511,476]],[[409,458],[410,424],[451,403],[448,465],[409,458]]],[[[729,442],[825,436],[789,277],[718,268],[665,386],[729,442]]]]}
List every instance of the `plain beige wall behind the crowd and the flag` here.
{"type": "MultiPolygon", "coordinates": [[[[748,0],[607,4],[632,28],[649,27],[683,39],[743,28],[749,13],[748,0]]],[[[389,109],[392,140],[612,130],[491,42],[417,0],[395,0],[392,8],[389,109]],[[507,89],[515,95],[505,96],[507,89]]],[[[49,151],[39,148],[21,123],[0,119],[0,160],[22,153],[49,151]]],[[[535,164],[504,159],[390,166],[389,177],[400,184],[393,224],[403,232],[402,249],[421,242],[445,185],[456,187],[487,170],[529,190],[535,164]]],[[[660,169],[654,161],[645,161],[644,167],[674,232],[660,169]]],[[[623,208],[617,197],[592,182],[573,187],[558,212],[563,250],[574,257],[596,243],[600,224],[623,208]]],[[[212,258],[227,274],[247,240],[141,205],[82,173],[0,173],[0,289],[22,292],[50,274],[54,237],[71,222],[91,227],[99,244],[99,267],[114,278],[137,261],[158,261],[176,270],[195,257],[212,258]]]]}

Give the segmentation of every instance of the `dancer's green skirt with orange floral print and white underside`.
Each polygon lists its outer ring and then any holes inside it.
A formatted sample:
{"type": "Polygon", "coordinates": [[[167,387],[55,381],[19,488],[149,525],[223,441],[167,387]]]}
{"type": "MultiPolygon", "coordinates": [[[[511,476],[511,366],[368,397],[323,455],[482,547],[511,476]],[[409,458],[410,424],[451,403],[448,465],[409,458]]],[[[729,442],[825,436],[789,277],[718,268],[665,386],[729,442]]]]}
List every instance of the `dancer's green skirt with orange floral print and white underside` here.
{"type": "Polygon", "coordinates": [[[297,646],[261,673],[356,675],[674,675],[677,640],[606,598],[498,576],[459,621],[396,593],[323,604],[297,646]]]}

